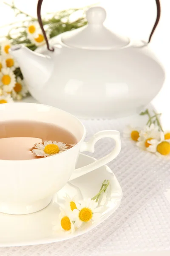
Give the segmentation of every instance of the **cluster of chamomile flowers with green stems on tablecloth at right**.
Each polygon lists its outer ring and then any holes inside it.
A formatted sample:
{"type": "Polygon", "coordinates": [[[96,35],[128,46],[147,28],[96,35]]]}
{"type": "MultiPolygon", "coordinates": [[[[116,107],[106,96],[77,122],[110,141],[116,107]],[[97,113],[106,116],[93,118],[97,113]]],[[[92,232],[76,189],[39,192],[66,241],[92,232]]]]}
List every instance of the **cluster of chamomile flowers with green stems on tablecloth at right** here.
{"type": "Polygon", "coordinates": [[[163,131],[159,121],[161,114],[154,112],[154,115],[151,116],[149,111],[146,110],[141,115],[148,115],[147,125],[142,129],[132,128],[128,125],[123,132],[123,136],[135,141],[136,145],[143,150],[161,157],[170,155],[170,131],[163,131]]]}

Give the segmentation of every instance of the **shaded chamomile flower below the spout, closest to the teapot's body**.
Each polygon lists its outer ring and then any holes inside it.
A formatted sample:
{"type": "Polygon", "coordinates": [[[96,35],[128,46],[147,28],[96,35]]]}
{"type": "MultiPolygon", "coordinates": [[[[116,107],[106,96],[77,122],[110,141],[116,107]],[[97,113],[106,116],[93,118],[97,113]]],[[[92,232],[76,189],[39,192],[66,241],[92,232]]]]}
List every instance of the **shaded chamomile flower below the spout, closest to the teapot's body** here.
{"type": "Polygon", "coordinates": [[[14,99],[20,100],[22,97],[25,97],[28,93],[27,86],[19,76],[17,77],[16,83],[14,84],[14,88],[12,90],[12,97],[14,99]]]}

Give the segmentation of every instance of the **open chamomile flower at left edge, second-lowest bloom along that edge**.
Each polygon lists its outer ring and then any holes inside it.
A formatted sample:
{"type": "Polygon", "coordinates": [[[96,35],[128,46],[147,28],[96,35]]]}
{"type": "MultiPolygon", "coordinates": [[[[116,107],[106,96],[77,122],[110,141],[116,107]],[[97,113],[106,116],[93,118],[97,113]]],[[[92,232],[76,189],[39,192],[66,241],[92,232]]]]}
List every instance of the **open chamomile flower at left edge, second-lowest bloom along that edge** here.
{"type": "Polygon", "coordinates": [[[14,88],[15,75],[10,68],[2,68],[0,73],[0,86],[3,86],[5,93],[10,93],[14,88]]]}

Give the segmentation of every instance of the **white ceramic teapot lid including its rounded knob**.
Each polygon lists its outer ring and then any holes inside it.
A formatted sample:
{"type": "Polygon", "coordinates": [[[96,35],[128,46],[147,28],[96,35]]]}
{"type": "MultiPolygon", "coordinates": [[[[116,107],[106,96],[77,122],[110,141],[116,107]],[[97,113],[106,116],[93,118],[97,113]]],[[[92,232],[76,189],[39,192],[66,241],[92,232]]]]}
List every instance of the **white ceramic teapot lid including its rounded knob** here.
{"type": "Polygon", "coordinates": [[[64,44],[81,49],[119,49],[129,44],[129,38],[114,34],[103,22],[106,11],[100,6],[91,7],[86,12],[88,25],[61,35],[64,44]]]}

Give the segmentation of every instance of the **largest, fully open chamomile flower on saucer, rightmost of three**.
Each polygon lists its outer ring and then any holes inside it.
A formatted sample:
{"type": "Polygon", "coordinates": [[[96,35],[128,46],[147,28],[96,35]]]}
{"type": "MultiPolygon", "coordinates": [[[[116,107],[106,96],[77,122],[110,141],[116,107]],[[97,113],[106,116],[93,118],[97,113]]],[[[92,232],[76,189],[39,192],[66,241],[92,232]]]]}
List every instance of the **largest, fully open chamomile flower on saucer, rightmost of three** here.
{"type": "Polygon", "coordinates": [[[84,222],[99,220],[101,213],[99,213],[100,208],[97,207],[97,205],[98,204],[94,200],[91,200],[91,198],[76,204],[77,209],[73,210],[73,220],[77,228],[84,222]]]}

